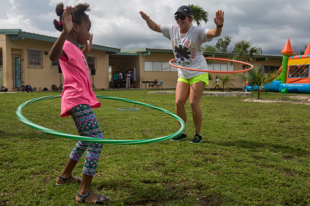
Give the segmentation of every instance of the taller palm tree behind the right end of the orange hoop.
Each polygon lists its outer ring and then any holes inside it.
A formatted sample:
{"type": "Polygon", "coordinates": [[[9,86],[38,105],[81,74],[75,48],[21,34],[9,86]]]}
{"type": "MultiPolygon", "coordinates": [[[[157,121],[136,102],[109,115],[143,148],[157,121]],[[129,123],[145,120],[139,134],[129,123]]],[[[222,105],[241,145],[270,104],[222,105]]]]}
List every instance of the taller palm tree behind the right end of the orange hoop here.
{"type": "MultiPolygon", "coordinates": [[[[257,46],[252,47],[252,43],[250,41],[241,40],[235,44],[235,47],[232,51],[232,53],[235,53],[235,55],[228,58],[237,61],[250,62],[252,58],[257,58],[259,56],[259,52],[260,49],[257,46]]],[[[233,64],[233,62],[230,61],[229,64],[233,64]]],[[[247,68],[246,64],[242,64],[241,66],[243,70],[247,68]]],[[[242,91],[245,92],[245,90],[246,81],[243,79],[242,91]]]]}

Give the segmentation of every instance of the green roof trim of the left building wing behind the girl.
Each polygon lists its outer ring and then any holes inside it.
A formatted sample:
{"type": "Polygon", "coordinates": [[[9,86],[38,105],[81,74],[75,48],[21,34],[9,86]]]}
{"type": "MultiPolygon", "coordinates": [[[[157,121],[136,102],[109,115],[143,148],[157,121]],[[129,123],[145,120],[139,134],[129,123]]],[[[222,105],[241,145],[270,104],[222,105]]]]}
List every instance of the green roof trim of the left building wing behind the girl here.
{"type": "MultiPolygon", "coordinates": [[[[21,29],[0,29],[0,34],[10,35],[11,41],[23,40],[23,39],[27,38],[27,39],[48,41],[48,42],[54,43],[57,40],[56,37],[34,34],[34,33],[29,33],[29,32],[23,32],[21,29]]],[[[83,45],[79,45],[79,46],[84,47],[83,45]]],[[[92,48],[107,51],[109,53],[118,53],[121,50],[119,48],[106,47],[106,46],[101,46],[101,45],[97,45],[97,44],[93,44],[92,48]]]]}

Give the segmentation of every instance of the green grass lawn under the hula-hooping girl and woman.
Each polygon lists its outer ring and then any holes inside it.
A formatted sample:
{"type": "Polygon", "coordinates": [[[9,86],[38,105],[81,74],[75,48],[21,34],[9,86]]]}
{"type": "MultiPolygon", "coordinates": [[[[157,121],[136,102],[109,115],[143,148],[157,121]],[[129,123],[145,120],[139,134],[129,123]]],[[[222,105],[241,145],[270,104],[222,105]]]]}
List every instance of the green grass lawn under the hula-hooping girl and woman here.
{"type": "MultiPolygon", "coordinates": [[[[175,95],[148,91],[95,94],[175,112],[175,95]]],[[[78,205],[78,184],[55,185],[76,141],[39,132],[15,115],[27,100],[60,94],[0,94],[0,205],[78,205]]],[[[253,95],[257,98],[256,92],[253,95]]],[[[297,95],[261,94],[263,99],[284,100],[276,103],[204,95],[201,144],[189,144],[195,131],[187,103],[188,140],[104,145],[92,189],[112,198],[113,206],[310,205],[310,105],[298,104],[297,95]]],[[[98,100],[102,106],[94,112],[106,139],[149,139],[179,129],[175,118],[161,111],[98,100]],[[118,111],[121,107],[140,110],[118,111]]],[[[32,103],[23,115],[41,126],[77,135],[71,117],[60,117],[60,98],[32,103]]],[[[82,167],[83,161],[73,176],[81,176],[82,167]]]]}

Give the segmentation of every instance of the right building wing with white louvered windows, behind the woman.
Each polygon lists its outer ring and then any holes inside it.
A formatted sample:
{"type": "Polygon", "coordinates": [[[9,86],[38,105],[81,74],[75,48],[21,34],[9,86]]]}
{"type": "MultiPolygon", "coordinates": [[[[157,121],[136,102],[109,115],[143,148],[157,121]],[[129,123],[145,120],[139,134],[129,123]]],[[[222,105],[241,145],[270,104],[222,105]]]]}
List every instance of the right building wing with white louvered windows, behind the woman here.
{"type": "MultiPolygon", "coordinates": [[[[221,52],[204,52],[205,57],[213,57],[220,59],[227,59],[229,56],[234,56],[234,53],[221,53],[221,52]]],[[[283,56],[274,55],[259,55],[259,58],[249,62],[255,64],[256,62],[264,66],[265,73],[277,70],[282,65],[283,56]]],[[[109,63],[112,65],[112,73],[133,70],[135,74],[134,86],[137,88],[144,88],[143,81],[163,81],[163,88],[175,88],[178,79],[178,69],[169,64],[169,61],[174,59],[172,49],[156,49],[156,48],[140,48],[140,49],[125,49],[121,53],[110,54],[109,63]],[[117,61],[122,59],[123,61],[117,61]],[[112,61],[111,61],[112,60],[112,61]],[[113,61],[115,60],[115,61],[113,61]]],[[[175,61],[171,61],[176,65],[175,61]]],[[[237,71],[242,70],[240,63],[234,63],[232,66],[228,61],[213,60],[211,65],[208,65],[208,70],[212,71],[237,71]]],[[[215,82],[215,75],[224,75],[224,73],[211,73],[213,80],[209,82],[209,86],[215,82]]],[[[242,80],[236,79],[233,82],[235,88],[242,87],[242,80]]]]}

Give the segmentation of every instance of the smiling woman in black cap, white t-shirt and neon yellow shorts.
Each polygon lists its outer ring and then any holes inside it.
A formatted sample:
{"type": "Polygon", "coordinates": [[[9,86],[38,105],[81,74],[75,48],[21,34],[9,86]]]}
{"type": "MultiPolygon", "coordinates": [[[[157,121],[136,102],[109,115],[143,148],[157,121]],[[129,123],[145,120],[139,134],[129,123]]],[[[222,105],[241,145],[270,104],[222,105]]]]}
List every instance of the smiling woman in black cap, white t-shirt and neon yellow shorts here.
{"type": "MultiPolygon", "coordinates": [[[[215,14],[214,29],[205,29],[192,26],[193,12],[188,6],[180,6],[175,12],[175,20],[178,25],[159,25],[144,12],[139,12],[146,21],[148,27],[155,32],[163,33],[172,42],[176,62],[179,66],[192,69],[207,70],[207,63],[203,56],[201,45],[211,41],[213,37],[221,35],[224,23],[224,11],[219,10],[215,14]]],[[[199,105],[205,86],[209,86],[208,73],[186,69],[178,69],[178,82],[175,93],[175,113],[186,123],[185,103],[189,97],[189,103],[193,112],[195,134],[190,143],[201,143],[202,113],[199,105]]],[[[180,126],[180,124],[179,124],[180,126]]],[[[172,141],[187,139],[186,130],[172,141]]]]}

